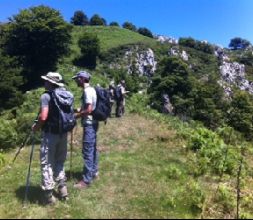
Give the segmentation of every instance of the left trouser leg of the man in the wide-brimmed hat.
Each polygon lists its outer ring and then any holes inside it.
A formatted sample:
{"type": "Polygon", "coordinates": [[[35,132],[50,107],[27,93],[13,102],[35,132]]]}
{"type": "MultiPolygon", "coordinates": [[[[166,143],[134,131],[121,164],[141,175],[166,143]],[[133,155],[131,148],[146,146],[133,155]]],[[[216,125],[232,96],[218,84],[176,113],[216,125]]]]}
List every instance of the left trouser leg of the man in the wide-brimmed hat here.
{"type": "Polygon", "coordinates": [[[56,140],[50,133],[42,134],[42,143],[40,148],[40,162],[42,174],[42,189],[52,190],[54,188],[53,167],[56,140]]]}

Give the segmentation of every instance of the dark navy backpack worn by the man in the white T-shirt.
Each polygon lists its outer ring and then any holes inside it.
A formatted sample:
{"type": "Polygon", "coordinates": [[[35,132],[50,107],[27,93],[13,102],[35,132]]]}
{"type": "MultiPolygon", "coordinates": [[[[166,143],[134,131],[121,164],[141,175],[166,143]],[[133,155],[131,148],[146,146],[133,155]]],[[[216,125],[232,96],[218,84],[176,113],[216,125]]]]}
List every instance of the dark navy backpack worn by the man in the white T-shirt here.
{"type": "Polygon", "coordinates": [[[94,89],[97,94],[97,104],[92,112],[93,119],[97,121],[106,121],[111,114],[110,92],[108,89],[104,89],[100,86],[96,86],[94,89]]]}

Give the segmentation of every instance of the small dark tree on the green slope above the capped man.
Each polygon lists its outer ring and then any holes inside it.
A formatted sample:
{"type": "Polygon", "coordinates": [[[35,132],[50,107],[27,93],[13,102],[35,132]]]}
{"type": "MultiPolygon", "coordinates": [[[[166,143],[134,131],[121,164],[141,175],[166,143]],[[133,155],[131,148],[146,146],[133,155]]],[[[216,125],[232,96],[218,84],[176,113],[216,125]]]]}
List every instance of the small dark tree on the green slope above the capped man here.
{"type": "Polygon", "coordinates": [[[81,49],[81,57],[78,59],[77,64],[90,69],[96,67],[96,59],[100,53],[99,39],[95,34],[84,33],[78,45],[81,49]]]}

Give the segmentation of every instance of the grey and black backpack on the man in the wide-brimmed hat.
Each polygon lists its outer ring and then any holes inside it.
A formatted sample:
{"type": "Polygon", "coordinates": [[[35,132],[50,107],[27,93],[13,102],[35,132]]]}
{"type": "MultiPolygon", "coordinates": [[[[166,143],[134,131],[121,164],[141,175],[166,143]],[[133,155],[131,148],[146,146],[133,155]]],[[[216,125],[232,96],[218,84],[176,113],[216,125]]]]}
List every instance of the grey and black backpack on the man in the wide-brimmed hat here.
{"type": "Polygon", "coordinates": [[[74,96],[65,88],[55,89],[51,93],[53,103],[59,112],[58,132],[65,133],[72,131],[76,126],[76,118],[74,115],[74,96]]]}

